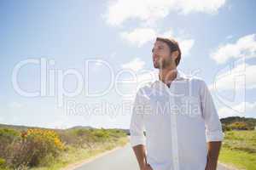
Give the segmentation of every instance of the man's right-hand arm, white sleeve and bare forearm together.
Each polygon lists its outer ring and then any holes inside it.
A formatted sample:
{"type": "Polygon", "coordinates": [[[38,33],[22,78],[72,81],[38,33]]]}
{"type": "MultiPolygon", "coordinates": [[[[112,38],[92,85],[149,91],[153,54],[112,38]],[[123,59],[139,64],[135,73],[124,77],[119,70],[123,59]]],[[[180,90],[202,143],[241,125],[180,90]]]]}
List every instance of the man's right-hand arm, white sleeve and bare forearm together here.
{"type": "Polygon", "coordinates": [[[218,154],[221,148],[221,141],[224,139],[224,133],[212,100],[212,95],[205,82],[202,82],[201,87],[201,111],[206,125],[208,146],[206,170],[216,170],[218,154]]]}

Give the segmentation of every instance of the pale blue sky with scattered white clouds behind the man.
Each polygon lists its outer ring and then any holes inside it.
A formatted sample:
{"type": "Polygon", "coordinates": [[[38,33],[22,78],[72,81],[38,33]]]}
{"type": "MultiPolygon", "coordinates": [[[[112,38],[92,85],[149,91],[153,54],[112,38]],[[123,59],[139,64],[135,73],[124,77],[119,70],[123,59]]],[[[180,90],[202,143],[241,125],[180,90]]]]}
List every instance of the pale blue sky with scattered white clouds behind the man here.
{"type": "MultiPolygon", "coordinates": [[[[256,117],[253,77],[256,71],[256,20],[253,17],[256,3],[253,0],[205,2],[1,2],[0,123],[128,128],[131,118],[128,110],[92,111],[105,103],[114,109],[124,101],[132,102],[138,82],[148,77],[143,70],[154,72],[151,48],[156,36],[177,39],[183,51],[178,68],[186,74],[198,71],[195,76],[207,82],[220,117],[256,117]],[[40,90],[43,59],[48,64],[45,95],[40,91],[38,96],[26,97],[15,89],[12,74],[15,67],[27,59],[34,59],[38,64],[21,67],[17,75],[19,87],[29,92],[40,90]],[[84,65],[88,59],[94,61],[86,70],[84,65]],[[121,74],[124,70],[126,73],[121,74]],[[108,87],[112,77],[131,79],[128,70],[137,77],[136,84],[120,82],[98,97],[84,94],[86,90],[99,94],[108,87]],[[49,81],[50,71],[54,72],[55,81],[49,81]],[[60,90],[58,71],[62,75],[65,71],[79,74],[81,92],[72,97],[57,94],[60,90]],[[56,94],[48,94],[49,83],[56,94]],[[131,96],[119,95],[116,88],[131,96]],[[75,103],[76,113],[67,112],[68,102],[75,103]],[[90,112],[90,116],[84,110],[90,112]]],[[[78,80],[77,76],[67,75],[62,85],[67,92],[73,92],[78,89],[78,80]]]]}

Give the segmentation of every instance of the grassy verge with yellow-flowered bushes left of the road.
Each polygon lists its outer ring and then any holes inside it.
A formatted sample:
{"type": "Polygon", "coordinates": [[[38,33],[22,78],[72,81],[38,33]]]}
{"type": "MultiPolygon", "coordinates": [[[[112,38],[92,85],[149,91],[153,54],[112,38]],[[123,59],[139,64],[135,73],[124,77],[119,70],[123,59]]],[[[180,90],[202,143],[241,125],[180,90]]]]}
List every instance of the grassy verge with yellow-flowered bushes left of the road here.
{"type": "Polygon", "coordinates": [[[0,128],[0,170],[57,170],[128,141],[119,129],[0,128]]]}

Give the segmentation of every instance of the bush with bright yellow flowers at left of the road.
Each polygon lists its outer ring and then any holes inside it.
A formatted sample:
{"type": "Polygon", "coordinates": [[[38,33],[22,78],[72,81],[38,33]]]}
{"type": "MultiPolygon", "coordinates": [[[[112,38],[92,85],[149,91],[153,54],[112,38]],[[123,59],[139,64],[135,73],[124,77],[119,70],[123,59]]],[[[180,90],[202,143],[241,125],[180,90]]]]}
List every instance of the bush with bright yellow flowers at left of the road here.
{"type": "Polygon", "coordinates": [[[16,167],[26,165],[37,166],[47,156],[57,156],[65,145],[53,130],[30,128],[20,133],[20,142],[15,143],[12,150],[12,164],[16,167]]]}

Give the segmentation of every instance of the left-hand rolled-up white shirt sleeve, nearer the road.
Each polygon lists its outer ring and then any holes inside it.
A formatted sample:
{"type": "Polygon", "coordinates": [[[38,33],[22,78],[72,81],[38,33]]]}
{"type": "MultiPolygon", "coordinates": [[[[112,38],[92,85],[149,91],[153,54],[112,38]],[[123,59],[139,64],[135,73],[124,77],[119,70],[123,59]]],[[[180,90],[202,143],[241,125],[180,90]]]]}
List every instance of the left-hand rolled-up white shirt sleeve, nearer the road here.
{"type": "Polygon", "coordinates": [[[131,146],[136,146],[137,144],[145,145],[144,136],[144,122],[143,122],[143,96],[141,90],[136,94],[131,114],[130,123],[130,134],[131,134],[131,146]]]}

